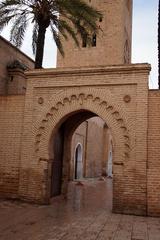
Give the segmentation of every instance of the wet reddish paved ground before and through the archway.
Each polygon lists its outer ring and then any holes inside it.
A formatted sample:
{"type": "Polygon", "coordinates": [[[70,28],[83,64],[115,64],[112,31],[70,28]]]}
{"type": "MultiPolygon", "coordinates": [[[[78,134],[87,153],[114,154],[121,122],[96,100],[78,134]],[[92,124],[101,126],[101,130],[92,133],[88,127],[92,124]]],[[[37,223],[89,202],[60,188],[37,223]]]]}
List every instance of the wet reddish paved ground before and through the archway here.
{"type": "Polygon", "coordinates": [[[112,214],[112,180],[71,182],[48,206],[0,201],[0,240],[160,240],[160,219],[112,214]]]}

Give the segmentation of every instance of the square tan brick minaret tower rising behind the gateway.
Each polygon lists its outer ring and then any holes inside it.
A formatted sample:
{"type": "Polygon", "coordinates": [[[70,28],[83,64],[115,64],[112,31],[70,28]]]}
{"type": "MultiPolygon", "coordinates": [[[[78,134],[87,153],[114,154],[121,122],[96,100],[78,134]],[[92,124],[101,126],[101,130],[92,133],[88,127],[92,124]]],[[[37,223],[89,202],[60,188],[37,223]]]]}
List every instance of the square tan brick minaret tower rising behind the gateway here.
{"type": "Polygon", "coordinates": [[[131,62],[132,0],[86,0],[103,13],[92,46],[72,39],[63,42],[65,57],[58,52],[57,67],[88,67],[131,62]]]}

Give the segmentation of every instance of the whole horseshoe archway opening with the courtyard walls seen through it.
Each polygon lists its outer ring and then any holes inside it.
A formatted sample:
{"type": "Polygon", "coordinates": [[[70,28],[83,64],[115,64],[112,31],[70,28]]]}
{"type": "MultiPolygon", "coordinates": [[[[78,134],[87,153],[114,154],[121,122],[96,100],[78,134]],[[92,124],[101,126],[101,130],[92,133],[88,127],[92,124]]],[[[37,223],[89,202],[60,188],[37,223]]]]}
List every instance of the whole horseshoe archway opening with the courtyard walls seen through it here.
{"type": "MultiPolygon", "coordinates": [[[[83,194],[90,193],[90,200],[95,198],[96,191],[97,194],[103,193],[102,201],[106,200],[105,206],[111,208],[112,141],[109,127],[95,113],[81,110],[66,116],[52,136],[50,196],[74,197],[80,187],[78,191],[83,189],[83,194]],[[76,191],[73,191],[73,188],[76,188],[76,191]]],[[[83,194],[78,196],[84,199],[83,194]]]]}

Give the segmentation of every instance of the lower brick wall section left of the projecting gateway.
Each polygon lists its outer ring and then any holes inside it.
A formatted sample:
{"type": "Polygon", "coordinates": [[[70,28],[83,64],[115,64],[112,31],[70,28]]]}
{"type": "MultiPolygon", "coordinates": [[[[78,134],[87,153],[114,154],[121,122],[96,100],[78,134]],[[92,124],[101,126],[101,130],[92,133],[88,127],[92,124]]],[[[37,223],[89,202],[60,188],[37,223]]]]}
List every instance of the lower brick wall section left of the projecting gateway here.
{"type": "Polygon", "coordinates": [[[0,195],[17,197],[24,96],[0,97],[0,195]]]}

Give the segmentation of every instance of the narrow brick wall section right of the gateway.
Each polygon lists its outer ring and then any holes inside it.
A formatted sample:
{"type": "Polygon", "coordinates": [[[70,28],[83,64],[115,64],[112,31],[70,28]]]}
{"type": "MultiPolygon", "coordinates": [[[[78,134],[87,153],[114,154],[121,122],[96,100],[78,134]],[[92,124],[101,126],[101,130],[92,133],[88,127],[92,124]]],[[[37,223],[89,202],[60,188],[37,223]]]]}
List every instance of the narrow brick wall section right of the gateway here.
{"type": "Polygon", "coordinates": [[[160,216],[160,91],[149,91],[148,111],[148,214],[160,216]]]}

